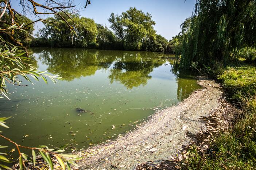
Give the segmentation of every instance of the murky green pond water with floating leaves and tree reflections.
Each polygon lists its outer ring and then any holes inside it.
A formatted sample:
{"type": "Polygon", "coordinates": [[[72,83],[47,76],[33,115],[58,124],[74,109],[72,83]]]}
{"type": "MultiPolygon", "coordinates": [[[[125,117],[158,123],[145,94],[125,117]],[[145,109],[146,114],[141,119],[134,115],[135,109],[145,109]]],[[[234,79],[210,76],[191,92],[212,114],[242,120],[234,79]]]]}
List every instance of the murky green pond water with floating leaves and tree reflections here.
{"type": "Polygon", "coordinates": [[[32,48],[30,54],[39,70],[61,74],[63,81],[8,86],[11,100],[0,100],[0,116],[12,118],[10,128],[0,130],[25,146],[72,143],[81,149],[114,139],[199,88],[167,54],[66,48],[32,48]]]}

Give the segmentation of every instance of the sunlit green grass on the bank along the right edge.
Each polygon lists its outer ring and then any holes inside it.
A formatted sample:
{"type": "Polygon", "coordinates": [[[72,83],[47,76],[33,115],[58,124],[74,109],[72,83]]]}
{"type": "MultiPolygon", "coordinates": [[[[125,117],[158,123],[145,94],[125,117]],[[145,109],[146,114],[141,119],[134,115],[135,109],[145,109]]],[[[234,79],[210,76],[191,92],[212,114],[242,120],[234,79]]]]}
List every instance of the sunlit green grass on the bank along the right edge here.
{"type": "Polygon", "coordinates": [[[242,114],[202,153],[195,146],[182,169],[253,169],[256,167],[256,67],[228,67],[217,75],[226,91],[241,106],[242,114]]]}

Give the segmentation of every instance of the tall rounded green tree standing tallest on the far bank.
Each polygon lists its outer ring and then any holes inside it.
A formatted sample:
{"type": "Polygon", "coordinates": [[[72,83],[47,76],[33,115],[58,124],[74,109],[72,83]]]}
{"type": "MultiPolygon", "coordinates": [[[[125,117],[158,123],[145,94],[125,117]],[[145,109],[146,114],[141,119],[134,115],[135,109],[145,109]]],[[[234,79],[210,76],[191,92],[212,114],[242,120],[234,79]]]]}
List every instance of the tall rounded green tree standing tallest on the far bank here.
{"type": "Polygon", "coordinates": [[[115,35],[123,42],[124,48],[129,50],[141,50],[151,43],[155,43],[156,31],[153,26],[155,21],[149,13],[137,10],[135,7],[129,8],[122,15],[111,13],[110,28],[115,35]]]}

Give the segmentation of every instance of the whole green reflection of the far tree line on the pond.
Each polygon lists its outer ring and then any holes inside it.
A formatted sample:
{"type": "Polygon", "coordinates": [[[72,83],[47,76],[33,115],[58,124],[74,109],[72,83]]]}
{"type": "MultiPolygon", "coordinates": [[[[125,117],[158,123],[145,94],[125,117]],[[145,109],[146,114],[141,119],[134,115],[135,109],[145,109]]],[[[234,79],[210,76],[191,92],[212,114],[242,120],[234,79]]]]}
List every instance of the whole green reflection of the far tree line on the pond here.
{"type": "Polygon", "coordinates": [[[48,66],[50,73],[61,74],[67,81],[90,76],[98,69],[111,67],[110,82],[119,81],[128,89],[146,85],[153,69],[165,62],[157,53],[150,52],[58,48],[33,51],[39,53],[39,59],[48,66]]]}

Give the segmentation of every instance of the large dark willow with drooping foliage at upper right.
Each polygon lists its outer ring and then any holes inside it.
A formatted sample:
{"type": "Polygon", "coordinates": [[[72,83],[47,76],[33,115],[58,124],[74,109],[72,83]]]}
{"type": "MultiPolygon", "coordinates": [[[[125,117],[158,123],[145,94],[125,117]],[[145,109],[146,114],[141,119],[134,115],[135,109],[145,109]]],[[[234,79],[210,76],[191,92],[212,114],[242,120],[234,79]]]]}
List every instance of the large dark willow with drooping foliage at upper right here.
{"type": "Polygon", "coordinates": [[[184,34],[181,67],[192,62],[227,64],[234,54],[256,44],[256,0],[196,0],[184,34]]]}

